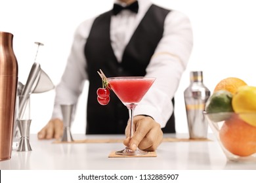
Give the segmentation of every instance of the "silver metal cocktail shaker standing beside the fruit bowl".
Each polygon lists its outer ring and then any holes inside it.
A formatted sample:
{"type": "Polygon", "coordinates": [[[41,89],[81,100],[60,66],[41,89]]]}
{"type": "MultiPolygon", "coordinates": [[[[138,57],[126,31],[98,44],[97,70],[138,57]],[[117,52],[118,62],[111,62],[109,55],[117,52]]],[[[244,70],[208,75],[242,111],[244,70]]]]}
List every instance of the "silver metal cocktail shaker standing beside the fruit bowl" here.
{"type": "Polygon", "coordinates": [[[207,138],[208,123],[203,116],[203,110],[210,94],[203,84],[203,72],[190,72],[190,86],[184,91],[190,139],[207,138]]]}

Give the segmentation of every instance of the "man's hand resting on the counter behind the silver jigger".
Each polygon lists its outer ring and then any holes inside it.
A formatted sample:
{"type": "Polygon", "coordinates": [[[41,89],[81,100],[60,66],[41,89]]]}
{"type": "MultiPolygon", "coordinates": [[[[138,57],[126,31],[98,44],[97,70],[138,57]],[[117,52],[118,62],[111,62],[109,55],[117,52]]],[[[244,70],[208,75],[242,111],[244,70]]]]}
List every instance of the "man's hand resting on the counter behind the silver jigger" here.
{"type": "Polygon", "coordinates": [[[56,118],[50,120],[41,131],[37,133],[38,139],[60,139],[63,135],[63,122],[56,118]]]}

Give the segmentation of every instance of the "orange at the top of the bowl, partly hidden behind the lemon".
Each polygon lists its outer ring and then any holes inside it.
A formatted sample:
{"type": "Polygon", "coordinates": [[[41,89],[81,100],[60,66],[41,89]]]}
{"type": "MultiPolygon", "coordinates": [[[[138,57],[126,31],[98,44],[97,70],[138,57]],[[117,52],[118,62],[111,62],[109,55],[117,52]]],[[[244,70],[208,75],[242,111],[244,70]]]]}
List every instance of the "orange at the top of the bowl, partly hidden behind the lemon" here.
{"type": "Polygon", "coordinates": [[[240,86],[245,85],[247,84],[244,82],[244,80],[240,78],[228,77],[221,80],[215,86],[214,92],[217,92],[219,90],[226,90],[234,95],[240,86]]]}

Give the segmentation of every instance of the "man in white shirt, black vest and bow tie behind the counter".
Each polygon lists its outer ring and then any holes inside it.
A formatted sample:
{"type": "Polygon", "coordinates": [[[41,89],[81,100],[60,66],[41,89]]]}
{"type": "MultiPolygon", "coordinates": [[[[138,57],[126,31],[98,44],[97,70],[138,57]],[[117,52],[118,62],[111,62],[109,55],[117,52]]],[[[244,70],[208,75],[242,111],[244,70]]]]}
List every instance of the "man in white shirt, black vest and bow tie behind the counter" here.
{"type": "Polygon", "coordinates": [[[58,104],[76,104],[85,80],[89,80],[87,134],[125,130],[126,146],[156,150],[163,138],[161,128],[170,121],[172,129],[167,132],[175,132],[173,99],[192,50],[190,21],[181,12],[158,7],[150,0],[115,3],[117,9],[77,27],[66,69],[56,87],[53,117],[39,131],[39,139],[61,137],[63,124],[58,104]],[[118,5],[133,9],[122,10],[118,5]],[[112,94],[108,105],[97,103],[96,89],[102,86],[96,72],[99,69],[109,77],[156,77],[135,109],[135,133],[131,140],[126,130],[128,111],[119,99],[112,94]]]}

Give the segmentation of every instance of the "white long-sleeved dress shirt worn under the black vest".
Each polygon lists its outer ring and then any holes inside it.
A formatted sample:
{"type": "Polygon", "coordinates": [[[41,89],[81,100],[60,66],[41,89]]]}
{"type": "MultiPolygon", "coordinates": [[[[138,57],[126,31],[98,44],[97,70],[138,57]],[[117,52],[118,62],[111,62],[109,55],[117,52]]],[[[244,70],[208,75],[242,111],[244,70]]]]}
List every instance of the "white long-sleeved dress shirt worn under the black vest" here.
{"type": "MultiPolygon", "coordinates": [[[[144,14],[152,5],[150,0],[139,0],[138,2],[139,12],[137,14],[129,10],[122,10],[117,16],[112,16],[110,39],[118,61],[121,61],[125,46],[139,25],[140,20],[142,20],[144,14]]],[[[116,1],[116,3],[123,4],[119,1],[116,1]]],[[[95,18],[92,18],[82,22],[75,31],[74,42],[66,69],[60,84],[56,86],[52,118],[62,119],[58,104],[76,104],[83,90],[83,84],[88,78],[85,72],[87,61],[84,55],[84,46],[94,20],[95,18]]],[[[175,96],[182,73],[186,69],[192,51],[192,42],[190,20],[181,12],[171,10],[165,19],[163,38],[146,68],[146,76],[154,76],[156,81],[135,108],[135,115],[144,114],[152,116],[161,127],[165,126],[173,113],[171,99],[175,96]]]]}

